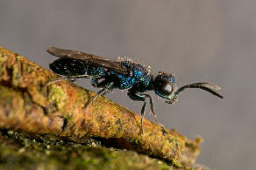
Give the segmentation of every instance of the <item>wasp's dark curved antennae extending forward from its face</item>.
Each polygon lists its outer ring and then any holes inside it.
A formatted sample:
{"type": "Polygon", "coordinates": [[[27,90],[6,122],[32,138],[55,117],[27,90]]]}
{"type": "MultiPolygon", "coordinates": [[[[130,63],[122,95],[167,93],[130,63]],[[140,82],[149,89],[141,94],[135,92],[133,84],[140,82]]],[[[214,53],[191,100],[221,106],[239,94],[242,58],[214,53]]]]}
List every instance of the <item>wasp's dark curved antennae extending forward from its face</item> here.
{"type": "Polygon", "coordinates": [[[175,92],[175,97],[177,98],[177,96],[182,92],[184,91],[185,89],[187,88],[199,88],[199,89],[203,89],[204,91],[207,91],[207,92],[210,92],[211,94],[217,96],[218,98],[220,99],[224,99],[224,97],[215,92],[214,90],[216,91],[220,91],[221,90],[221,87],[218,86],[218,85],[214,85],[214,84],[210,84],[210,83],[195,83],[195,84],[190,84],[190,85],[184,85],[182,86],[181,88],[179,88],[176,92],[175,92]]]}

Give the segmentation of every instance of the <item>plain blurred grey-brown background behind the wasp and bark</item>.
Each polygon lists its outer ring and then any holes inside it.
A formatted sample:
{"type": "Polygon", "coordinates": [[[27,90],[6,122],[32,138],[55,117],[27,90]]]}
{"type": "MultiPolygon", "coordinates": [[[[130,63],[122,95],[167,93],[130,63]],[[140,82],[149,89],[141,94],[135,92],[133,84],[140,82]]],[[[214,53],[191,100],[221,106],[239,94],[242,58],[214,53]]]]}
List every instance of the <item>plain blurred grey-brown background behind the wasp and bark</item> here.
{"type": "MultiPolygon", "coordinates": [[[[255,17],[254,0],[1,0],[0,45],[46,68],[56,58],[45,49],[54,45],[129,56],[155,73],[174,72],[180,86],[221,85],[224,99],[191,89],[175,105],[154,97],[155,108],[167,128],[203,137],[197,162],[248,170],[256,168],[255,17]]],[[[140,112],[125,92],[107,96],[140,112]]]]}

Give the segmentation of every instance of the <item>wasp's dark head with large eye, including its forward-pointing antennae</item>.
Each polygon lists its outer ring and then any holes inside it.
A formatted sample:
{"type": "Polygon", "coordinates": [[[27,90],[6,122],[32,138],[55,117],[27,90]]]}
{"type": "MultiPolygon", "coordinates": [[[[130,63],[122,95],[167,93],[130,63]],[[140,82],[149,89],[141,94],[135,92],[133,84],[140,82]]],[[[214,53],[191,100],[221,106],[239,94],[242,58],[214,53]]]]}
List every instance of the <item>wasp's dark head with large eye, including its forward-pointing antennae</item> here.
{"type": "Polygon", "coordinates": [[[204,91],[210,92],[218,98],[224,98],[222,95],[214,91],[219,91],[221,88],[218,85],[210,83],[195,83],[190,85],[184,85],[178,89],[175,85],[174,75],[161,71],[153,80],[153,88],[154,92],[161,98],[166,99],[165,102],[168,104],[174,104],[174,102],[178,100],[179,94],[181,94],[181,92],[187,88],[200,88],[204,91]]]}

